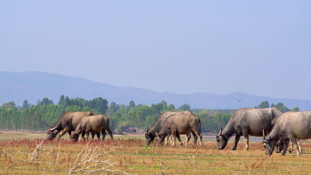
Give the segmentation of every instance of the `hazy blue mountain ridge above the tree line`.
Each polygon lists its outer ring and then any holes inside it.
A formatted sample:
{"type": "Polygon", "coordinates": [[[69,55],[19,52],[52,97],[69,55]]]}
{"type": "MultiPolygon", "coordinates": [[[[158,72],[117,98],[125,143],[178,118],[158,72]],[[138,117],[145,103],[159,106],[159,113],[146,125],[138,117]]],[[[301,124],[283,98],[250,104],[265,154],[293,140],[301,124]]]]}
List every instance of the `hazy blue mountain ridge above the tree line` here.
{"type": "Polygon", "coordinates": [[[278,99],[242,92],[226,95],[160,93],[141,88],[116,87],[82,78],[37,71],[0,71],[0,92],[0,105],[14,101],[19,106],[23,104],[24,100],[35,105],[37,100],[43,98],[49,98],[53,100],[54,104],[57,104],[60,96],[64,95],[70,99],[80,97],[85,100],[102,97],[109,104],[115,102],[125,105],[132,100],[136,105],[151,105],[164,100],[167,104],[174,104],[176,108],[188,104],[191,108],[200,109],[238,109],[258,106],[261,102],[268,101],[270,105],[282,102],[290,109],[298,106],[300,110],[311,110],[311,100],[278,99]],[[237,99],[242,100],[239,102],[237,99]]]}

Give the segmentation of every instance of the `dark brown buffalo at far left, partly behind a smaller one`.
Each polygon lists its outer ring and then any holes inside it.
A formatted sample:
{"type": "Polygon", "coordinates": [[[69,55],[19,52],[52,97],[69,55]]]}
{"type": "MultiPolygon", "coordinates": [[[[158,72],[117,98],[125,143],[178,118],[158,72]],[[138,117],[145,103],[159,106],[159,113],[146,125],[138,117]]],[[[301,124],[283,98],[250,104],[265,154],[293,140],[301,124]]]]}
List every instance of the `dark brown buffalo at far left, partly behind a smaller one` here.
{"type": "MultiPolygon", "coordinates": [[[[85,112],[74,112],[74,111],[67,111],[65,112],[56,122],[54,126],[48,129],[47,140],[52,140],[56,137],[56,135],[60,132],[59,138],[65,135],[67,132],[69,133],[69,137],[71,139],[71,131],[74,131],[78,126],[81,119],[85,116],[92,116],[97,115],[91,111],[85,112]]],[[[100,133],[97,134],[99,138],[100,133]]],[[[94,137],[94,136],[92,136],[94,137]]]]}

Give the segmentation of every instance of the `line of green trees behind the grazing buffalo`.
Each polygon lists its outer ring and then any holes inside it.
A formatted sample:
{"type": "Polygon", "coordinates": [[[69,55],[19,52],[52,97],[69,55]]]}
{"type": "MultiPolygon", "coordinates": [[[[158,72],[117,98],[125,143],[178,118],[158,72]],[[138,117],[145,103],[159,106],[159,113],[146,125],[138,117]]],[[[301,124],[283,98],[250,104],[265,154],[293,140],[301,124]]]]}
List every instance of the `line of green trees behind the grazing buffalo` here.
{"type": "MultiPolygon", "coordinates": [[[[282,103],[269,106],[267,101],[255,108],[274,106],[282,112],[299,111],[298,107],[288,109],[282,103]]],[[[114,102],[108,105],[108,101],[102,97],[85,100],[82,98],[69,99],[68,96],[61,95],[57,105],[48,98],[44,98],[42,101],[38,100],[36,105],[28,104],[27,100],[22,106],[16,106],[14,102],[4,103],[0,106],[0,130],[47,131],[66,111],[92,111],[108,116],[111,130],[121,134],[128,127],[146,130],[163,112],[185,110],[190,110],[201,119],[202,133],[215,133],[219,131],[219,124],[225,126],[228,123],[231,114],[236,109],[191,109],[188,104],[175,108],[174,105],[168,105],[165,101],[151,106],[135,105],[134,101],[130,101],[129,105],[114,102]]]]}

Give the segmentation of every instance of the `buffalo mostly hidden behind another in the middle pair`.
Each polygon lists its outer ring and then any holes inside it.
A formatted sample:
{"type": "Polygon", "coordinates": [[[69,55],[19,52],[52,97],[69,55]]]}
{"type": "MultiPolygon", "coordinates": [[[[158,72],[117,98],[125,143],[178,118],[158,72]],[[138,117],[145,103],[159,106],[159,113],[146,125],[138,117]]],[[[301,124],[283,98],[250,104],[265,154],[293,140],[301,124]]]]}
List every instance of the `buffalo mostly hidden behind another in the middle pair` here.
{"type": "MultiPolygon", "coordinates": [[[[155,124],[148,129],[147,127],[147,131],[145,133],[145,138],[146,138],[146,144],[150,144],[153,140],[155,140],[155,133],[159,132],[161,130],[161,127],[163,126],[165,120],[171,116],[171,115],[181,115],[181,114],[192,114],[190,111],[180,111],[180,112],[172,112],[172,111],[167,111],[167,112],[163,112],[156,120],[155,124]]],[[[196,135],[193,135],[193,138],[196,137],[196,135]]],[[[169,135],[168,135],[169,137],[169,135]]],[[[165,145],[168,144],[168,137],[165,138],[165,145]]],[[[191,137],[191,136],[190,136],[191,137]]],[[[179,140],[179,143],[182,145],[182,142],[180,140],[179,135],[177,136],[177,139],[179,140]]],[[[195,140],[196,141],[196,140],[195,140]]]]}

